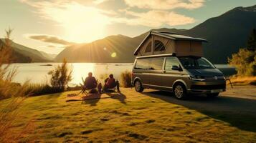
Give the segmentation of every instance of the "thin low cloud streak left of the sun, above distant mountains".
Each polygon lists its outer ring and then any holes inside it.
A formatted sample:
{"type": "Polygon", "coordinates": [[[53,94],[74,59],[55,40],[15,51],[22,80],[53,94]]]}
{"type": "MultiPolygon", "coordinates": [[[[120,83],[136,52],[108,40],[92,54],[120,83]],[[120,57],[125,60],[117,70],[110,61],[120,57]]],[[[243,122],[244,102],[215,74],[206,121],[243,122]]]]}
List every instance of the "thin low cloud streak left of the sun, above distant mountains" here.
{"type": "Polygon", "coordinates": [[[34,39],[37,41],[43,41],[46,43],[52,43],[52,44],[61,44],[61,45],[71,45],[75,44],[74,42],[66,41],[64,39],[60,39],[57,36],[52,35],[44,35],[44,34],[27,34],[27,38],[34,39]]]}

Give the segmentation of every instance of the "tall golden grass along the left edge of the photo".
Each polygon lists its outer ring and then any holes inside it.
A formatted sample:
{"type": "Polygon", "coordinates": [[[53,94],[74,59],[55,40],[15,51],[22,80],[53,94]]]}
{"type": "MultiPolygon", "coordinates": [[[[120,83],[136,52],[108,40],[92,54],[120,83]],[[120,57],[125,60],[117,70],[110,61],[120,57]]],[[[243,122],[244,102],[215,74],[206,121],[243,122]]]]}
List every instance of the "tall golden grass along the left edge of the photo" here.
{"type": "MultiPolygon", "coordinates": [[[[16,74],[16,68],[9,69],[12,59],[11,29],[6,30],[4,42],[0,44],[0,99],[9,99],[9,103],[0,108],[0,142],[17,142],[29,129],[29,123],[25,124],[22,131],[11,129],[14,122],[20,119],[19,106],[26,99],[26,82],[23,85],[11,82],[16,74]],[[19,98],[17,98],[19,97],[19,98]]],[[[29,94],[29,93],[27,93],[29,94]]]]}

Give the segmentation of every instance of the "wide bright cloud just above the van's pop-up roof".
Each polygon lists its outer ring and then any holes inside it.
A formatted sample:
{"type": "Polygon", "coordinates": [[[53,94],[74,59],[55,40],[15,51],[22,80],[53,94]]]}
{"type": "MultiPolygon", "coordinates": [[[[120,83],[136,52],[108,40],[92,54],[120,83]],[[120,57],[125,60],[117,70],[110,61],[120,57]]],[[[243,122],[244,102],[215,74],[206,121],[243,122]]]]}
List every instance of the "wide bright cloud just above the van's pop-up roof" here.
{"type": "Polygon", "coordinates": [[[145,13],[126,11],[126,14],[134,18],[117,18],[116,22],[126,23],[128,25],[142,25],[149,27],[159,27],[163,24],[169,26],[185,25],[194,23],[194,19],[175,12],[152,10],[145,13]]]}

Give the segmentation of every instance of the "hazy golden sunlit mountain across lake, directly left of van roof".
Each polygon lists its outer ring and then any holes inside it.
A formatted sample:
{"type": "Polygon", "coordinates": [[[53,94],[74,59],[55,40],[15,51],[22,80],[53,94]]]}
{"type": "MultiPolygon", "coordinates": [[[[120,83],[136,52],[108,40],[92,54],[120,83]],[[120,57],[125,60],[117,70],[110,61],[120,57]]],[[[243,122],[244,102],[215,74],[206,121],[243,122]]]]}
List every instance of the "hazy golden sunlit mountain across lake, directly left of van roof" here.
{"type": "Polygon", "coordinates": [[[66,58],[69,62],[131,62],[133,51],[145,35],[131,38],[123,35],[108,36],[89,44],[75,44],[64,49],[55,61],[66,58]],[[111,54],[116,56],[112,57],[111,54]]]}

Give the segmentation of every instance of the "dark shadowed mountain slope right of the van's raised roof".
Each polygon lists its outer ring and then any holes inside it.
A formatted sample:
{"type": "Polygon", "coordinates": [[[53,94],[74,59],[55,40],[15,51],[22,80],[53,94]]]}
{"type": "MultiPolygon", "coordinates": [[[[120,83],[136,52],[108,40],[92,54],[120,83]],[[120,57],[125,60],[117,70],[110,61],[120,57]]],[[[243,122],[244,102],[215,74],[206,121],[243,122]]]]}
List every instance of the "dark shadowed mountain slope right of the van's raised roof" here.
{"type": "Polygon", "coordinates": [[[227,62],[227,56],[246,46],[250,31],[255,27],[256,6],[237,7],[204,21],[185,34],[207,39],[204,56],[214,63],[223,64],[227,62]]]}

